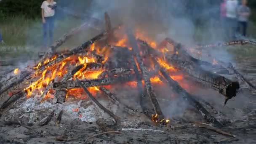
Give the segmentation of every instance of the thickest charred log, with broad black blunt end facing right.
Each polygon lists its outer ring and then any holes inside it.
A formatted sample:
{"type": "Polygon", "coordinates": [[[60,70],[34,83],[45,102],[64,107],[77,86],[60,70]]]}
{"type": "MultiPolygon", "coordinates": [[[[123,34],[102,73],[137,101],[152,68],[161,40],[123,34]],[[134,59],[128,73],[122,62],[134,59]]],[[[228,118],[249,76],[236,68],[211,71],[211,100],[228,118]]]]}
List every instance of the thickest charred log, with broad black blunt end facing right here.
{"type": "Polygon", "coordinates": [[[224,95],[227,100],[236,96],[237,90],[240,88],[238,82],[231,81],[223,76],[202,69],[198,61],[192,56],[189,56],[189,54],[181,48],[179,49],[179,54],[167,54],[166,60],[175,67],[187,72],[189,76],[203,86],[218,91],[224,95]]]}

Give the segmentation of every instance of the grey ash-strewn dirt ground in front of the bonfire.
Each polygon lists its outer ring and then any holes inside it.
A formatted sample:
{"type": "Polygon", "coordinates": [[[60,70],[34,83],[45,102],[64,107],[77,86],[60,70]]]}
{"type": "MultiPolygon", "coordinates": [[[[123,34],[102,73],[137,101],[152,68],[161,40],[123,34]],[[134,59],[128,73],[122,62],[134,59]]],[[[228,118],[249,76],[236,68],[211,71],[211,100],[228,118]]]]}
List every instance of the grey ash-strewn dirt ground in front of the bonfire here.
{"type": "MultiPolygon", "coordinates": [[[[236,67],[256,85],[256,79],[253,79],[256,76],[256,59],[240,61],[236,67]]],[[[142,114],[136,102],[129,105],[138,112],[129,116],[101,99],[104,106],[121,117],[121,125],[117,127],[113,126],[114,120],[88,99],[52,105],[47,102],[35,104],[36,99],[30,98],[20,100],[0,117],[0,144],[256,144],[256,95],[245,89],[224,106],[223,96],[215,91],[202,88],[190,93],[208,101],[215,110],[205,107],[224,124],[221,130],[236,137],[199,128],[192,121],[203,120],[189,107],[180,115],[171,117],[168,125],[159,126],[142,114]],[[74,110],[77,107],[78,112],[74,110]],[[61,123],[56,123],[57,115],[54,115],[47,125],[37,125],[52,110],[56,114],[63,110],[61,123]],[[20,120],[22,124],[6,123],[8,120],[20,120]],[[120,133],[103,134],[86,141],[88,137],[106,131],[120,133]]],[[[174,107],[165,108],[163,112],[168,115],[171,109],[174,107]]]]}

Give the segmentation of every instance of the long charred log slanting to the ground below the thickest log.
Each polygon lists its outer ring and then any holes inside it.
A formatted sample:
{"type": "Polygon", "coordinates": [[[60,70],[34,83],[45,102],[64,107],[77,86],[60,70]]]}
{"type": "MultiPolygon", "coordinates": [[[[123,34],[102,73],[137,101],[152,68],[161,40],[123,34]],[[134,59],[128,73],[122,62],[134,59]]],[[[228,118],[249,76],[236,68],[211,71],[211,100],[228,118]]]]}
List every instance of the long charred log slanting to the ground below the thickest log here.
{"type": "Polygon", "coordinates": [[[223,126],[218,120],[216,120],[215,117],[211,116],[211,114],[194,98],[195,96],[189,94],[179,85],[178,82],[173,80],[169,76],[166,69],[164,67],[161,67],[155,58],[152,58],[152,60],[154,61],[155,65],[157,65],[157,67],[160,67],[160,73],[163,75],[163,77],[165,77],[165,79],[168,81],[169,86],[172,87],[173,90],[176,91],[176,93],[179,93],[184,100],[188,101],[189,104],[194,106],[206,120],[215,124],[216,126],[223,126]]]}

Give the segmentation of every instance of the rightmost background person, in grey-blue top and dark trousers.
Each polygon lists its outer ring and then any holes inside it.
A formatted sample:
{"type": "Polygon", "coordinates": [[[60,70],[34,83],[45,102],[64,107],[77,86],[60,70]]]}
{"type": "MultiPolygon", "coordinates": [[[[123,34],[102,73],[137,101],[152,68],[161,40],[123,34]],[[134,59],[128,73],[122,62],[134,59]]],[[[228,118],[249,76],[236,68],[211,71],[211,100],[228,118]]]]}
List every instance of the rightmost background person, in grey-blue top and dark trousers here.
{"type": "Polygon", "coordinates": [[[242,35],[246,36],[248,27],[248,19],[251,14],[250,8],[247,6],[247,0],[242,0],[242,5],[237,8],[238,14],[238,27],[237,32],[240,33],[240,27],[242,27],[242,35]]]}

